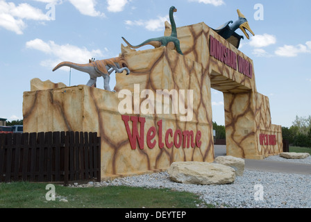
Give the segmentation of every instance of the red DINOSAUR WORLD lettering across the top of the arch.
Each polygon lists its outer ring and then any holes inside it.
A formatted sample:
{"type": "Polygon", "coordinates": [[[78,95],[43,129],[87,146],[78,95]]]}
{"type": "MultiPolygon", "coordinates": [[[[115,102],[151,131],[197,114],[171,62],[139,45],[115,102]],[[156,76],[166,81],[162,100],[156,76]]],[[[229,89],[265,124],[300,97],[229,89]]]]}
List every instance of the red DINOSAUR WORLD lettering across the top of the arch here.
{"type": "Polygon", "coordinates": [[[210,56],[221,62],[224,62],[224,64],[226,64],[228,67],[239,71],[239,73],[243,74],[244,76],[253,78],[253,66],[251,65],[251,62],[245,60],[241,56],[238,56],[237,53],[221,44],[221,42],[219,42],[211,35],[210,56]]]}

